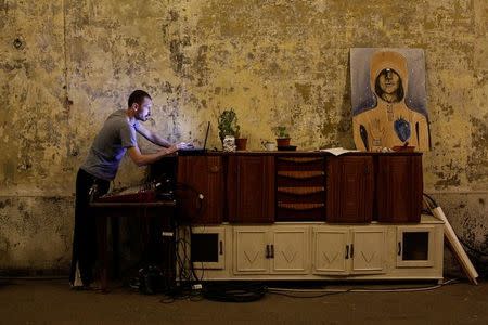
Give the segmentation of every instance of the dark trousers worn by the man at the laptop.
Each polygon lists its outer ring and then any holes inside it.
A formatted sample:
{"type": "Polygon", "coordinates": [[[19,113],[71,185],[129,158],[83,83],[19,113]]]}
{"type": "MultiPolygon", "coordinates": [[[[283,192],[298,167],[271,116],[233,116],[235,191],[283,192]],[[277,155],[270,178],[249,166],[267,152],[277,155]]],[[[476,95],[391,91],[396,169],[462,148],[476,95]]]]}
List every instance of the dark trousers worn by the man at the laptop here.
{"type": "Polygon", "coordinates": [[[93,268],[97,261],[97,220],[90,212],[92,197],[108,192],[110,181],[95,178],[82,169],[76,176],[75,232],[73,236],[73,259],[69,283],[73,285],[76,275],[76,263],[85,286],[93,282],[93,268]],[[95,192],[93,192],[95,191],[95,192]]]}

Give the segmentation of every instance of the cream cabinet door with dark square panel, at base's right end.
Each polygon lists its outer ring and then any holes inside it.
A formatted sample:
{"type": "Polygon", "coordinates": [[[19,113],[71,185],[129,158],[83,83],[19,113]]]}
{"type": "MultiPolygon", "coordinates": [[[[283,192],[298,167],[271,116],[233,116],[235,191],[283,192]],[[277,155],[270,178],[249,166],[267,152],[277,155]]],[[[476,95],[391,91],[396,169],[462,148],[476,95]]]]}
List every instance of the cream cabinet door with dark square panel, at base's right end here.
{"type": "Polygon", "coordinates": [[[434,266],[435,227],[412,225],[397,227],[397,268],[434,266]]]}

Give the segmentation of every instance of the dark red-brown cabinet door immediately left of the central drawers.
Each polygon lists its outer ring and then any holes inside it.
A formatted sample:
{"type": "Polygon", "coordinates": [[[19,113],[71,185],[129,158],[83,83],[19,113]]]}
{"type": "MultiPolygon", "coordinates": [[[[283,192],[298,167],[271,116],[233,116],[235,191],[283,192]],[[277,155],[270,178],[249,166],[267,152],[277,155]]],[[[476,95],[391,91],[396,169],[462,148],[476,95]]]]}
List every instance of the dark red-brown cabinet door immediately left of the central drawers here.
{"type": "Polygon", "coordinates": [[[229,157],[228,195],[230,222],[273,222],[274,157],[229,157]]]}

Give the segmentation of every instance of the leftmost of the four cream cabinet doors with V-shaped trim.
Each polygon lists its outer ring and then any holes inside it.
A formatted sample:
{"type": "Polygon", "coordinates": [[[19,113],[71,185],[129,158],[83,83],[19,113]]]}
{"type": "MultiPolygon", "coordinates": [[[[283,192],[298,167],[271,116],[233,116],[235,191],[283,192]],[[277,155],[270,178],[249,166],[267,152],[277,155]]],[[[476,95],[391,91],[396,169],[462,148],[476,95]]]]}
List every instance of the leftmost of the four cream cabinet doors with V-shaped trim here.
{"type": "Polygon", "coordinates": [[[234,226],[233,232],[235,274],[267,274],[271,247],[268,229],[234,226]]]}

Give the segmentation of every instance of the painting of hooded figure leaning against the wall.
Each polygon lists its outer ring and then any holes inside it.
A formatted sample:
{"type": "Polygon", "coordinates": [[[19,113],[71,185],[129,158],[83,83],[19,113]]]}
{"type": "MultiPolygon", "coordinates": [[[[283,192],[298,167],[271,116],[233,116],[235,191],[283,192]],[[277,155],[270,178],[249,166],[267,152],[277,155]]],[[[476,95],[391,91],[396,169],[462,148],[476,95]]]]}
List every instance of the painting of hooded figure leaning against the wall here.
{"type": "Polygon", "coordinates": [[[351,94],[358,150],[429,150],[422,50],[351,49],[351,94]]]}

